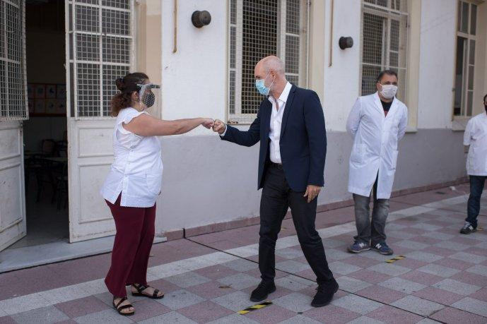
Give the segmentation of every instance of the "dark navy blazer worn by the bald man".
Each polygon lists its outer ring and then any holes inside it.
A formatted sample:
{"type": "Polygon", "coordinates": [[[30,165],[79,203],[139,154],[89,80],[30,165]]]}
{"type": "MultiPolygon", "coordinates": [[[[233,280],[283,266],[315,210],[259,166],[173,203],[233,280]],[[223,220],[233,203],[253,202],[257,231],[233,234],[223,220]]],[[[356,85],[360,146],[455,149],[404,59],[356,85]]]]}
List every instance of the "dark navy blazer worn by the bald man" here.
{"type": "MultiPolygon", "coordinates": [[[[269,127],[272,104],[265,98],[257,118],[248,131],[228,125],[222,140],[252,146],[260,141],[258,188],[264,186],[264,170],[269,159],[269,127]]],[[[292,86],[281,125],[281,161],[293,191],[304,192],[308,184],[324,185],[324,160],[327,155],[327,131],[324,114],[315,91],[292,86]]]]}

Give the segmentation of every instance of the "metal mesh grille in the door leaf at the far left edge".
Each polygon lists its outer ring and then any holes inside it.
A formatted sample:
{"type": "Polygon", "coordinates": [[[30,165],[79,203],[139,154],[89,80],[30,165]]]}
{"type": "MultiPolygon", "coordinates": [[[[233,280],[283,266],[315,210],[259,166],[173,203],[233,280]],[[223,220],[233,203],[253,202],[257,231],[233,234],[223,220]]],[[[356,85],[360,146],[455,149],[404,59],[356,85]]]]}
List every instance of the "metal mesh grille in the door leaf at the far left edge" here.
{"type": "Polygon", "coordinates": [[[0,121],[25,119],[25,1],[0,0],[0,121]]]}

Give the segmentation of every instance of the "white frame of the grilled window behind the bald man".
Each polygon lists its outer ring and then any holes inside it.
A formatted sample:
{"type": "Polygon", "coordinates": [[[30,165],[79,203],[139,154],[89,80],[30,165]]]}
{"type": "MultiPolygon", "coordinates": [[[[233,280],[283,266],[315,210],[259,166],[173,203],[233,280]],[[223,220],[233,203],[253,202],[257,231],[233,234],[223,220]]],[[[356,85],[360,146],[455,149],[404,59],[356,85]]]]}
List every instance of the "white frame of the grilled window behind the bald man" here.
{"type": "MultiPolygon", "coordinates": [[[[288,73],[286,76],[298,76],[298,85],[307,87],[307,75],[308,75],[308,38],[309,38],[309,11],[310,0],[300,0],[300,61],[299,61],[299,73],[288,73]]],[[[243,30],[243,0],[228,0],[228,75],[227,75],[227,104],[226,109],[227,120],[229,124],[252,124],[257,114],[242,114],[242,30],[243,30]],[[231,1],[236,1],[236,23],[231,22],[231,1]],[[231,29],[235,28],[235,68],[230,66],[230,57],[232,47],[230,44],[231,29]],[[235,73],[235,113],[230,112],[230,72],[235,73]]],[[[278,17],[277,17],[277,44],[276,48],[279,56],[284,62],[286,62],[286,36],[296,35],[286,31],[286,0],[278,0],[278,17]],[[286,32],[281,32],[285,30],[286,32]]],[[[257,90],[255,90],[257,91],[257,90]]],[[[257,108],[257,107],[256,107],[257,108]]]]}

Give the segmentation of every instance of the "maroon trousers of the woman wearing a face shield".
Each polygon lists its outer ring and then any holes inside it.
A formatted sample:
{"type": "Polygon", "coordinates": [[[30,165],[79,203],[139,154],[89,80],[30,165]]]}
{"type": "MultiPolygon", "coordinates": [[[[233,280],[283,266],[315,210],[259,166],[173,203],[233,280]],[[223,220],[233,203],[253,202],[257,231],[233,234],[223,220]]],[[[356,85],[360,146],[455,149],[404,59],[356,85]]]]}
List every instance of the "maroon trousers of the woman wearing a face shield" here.
{"type": "Polygon", "coordinates": [[[154,239],[156,204],[150,208],[122,207],[118,197],[115,205],[107,201],[115,219],[115,243],[112,265],[105,284],[115,297],[127,296],[126,286],[147,284],[147,265],[154,239]]]}

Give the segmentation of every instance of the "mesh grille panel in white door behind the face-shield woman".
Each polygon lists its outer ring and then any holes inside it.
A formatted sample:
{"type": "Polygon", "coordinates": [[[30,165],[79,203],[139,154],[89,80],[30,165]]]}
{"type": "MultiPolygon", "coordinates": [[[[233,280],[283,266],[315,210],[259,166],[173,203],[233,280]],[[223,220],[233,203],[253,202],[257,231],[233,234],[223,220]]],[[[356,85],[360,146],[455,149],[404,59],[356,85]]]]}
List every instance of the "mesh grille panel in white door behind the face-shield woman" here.
{"type": "Polygon", "coordinates": [[[134,0],[69,0],[71,116],[110,116],[115,79],[134,64],[134,0]]]}

